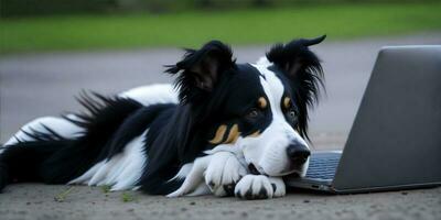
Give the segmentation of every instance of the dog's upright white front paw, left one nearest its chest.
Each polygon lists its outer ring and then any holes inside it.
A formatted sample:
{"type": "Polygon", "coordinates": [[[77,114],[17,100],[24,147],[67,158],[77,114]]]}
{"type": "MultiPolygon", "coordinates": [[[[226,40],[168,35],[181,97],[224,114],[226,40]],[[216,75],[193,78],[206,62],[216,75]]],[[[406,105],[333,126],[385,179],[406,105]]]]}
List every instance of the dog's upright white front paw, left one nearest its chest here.
{"type": "Polygon", "coordinates": [[[229,152],[212,155],[205,172],[205,183],[216,196],[232,196],[239,179],[247,174],[237,157],[229,152]]]}

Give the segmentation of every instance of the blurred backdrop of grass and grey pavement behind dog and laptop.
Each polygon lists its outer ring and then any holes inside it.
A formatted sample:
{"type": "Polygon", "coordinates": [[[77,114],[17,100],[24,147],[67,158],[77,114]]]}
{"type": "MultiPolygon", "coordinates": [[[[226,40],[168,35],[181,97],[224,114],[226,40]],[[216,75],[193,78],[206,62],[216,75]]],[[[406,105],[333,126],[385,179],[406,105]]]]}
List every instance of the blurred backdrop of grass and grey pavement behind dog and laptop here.
{"type": "Polygon", "coordinates": [[[182,47],[216,38],[255,62],[273,43],[327,34],[313,47],[326,92],[311,132],[316,148],[341,148],[379,48],[441,44],[440,12],[439,0],[0,0],[0,143],[80,110],[82,89],[171,82],[163,65],[182,47]]]}

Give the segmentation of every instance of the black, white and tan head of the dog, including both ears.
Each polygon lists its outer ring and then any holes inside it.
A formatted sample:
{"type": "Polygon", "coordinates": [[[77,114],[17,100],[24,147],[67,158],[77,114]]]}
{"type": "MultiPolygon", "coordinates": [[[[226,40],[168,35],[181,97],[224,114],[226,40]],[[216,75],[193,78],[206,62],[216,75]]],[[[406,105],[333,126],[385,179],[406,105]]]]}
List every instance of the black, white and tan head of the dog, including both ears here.
{"type": "Polygon", "coordinates": [[[304,175],[308,108],[322,79],[309,46],[324,38],[277,44],[256,64],[237,64],[227,45],[212,41],[186,50],[166,72],[178,74],[181,105],[190,106],[194,129],[212,152],[237,153],[251,173],[304,175]]]}

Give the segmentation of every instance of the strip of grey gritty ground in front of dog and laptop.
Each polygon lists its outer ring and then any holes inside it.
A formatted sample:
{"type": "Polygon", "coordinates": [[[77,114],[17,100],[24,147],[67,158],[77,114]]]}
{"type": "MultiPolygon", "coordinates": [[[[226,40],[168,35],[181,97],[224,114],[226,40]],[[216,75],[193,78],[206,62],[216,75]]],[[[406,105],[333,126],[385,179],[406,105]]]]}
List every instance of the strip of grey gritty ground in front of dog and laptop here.
{"type": "Polygon", "coordinates": [[[212,196],[168,199],[130,193],[105,194],[100,188],[75,187],[62,202],[54,196],[66,186],[15,185],[0,195],[0,219],[433,219],[441,217],[441,188],[327,196],[292,191],[271,200],[238,200],[212,196]]]}

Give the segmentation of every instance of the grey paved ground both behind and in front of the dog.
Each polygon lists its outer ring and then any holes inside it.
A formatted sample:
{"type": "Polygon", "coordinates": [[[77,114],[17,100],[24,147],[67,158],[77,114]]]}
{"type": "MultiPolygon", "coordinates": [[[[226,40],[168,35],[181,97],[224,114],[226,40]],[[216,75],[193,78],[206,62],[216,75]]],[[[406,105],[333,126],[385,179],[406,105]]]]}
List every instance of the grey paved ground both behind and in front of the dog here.
{"type": "MultiPolygon", "coordinates": [[[[441,33],[324,42],[313,50],[323,61],[327,94],[311,116],[315,150],[342,148],[384,45],[441,44],[441,33]]],[[[236,47],[239,62],[254,62],[267,47],[236,47]]],[[[0,57],[0,142],[23,123],[42,116],[79,110],[80,89],[116,94],[152,82],[170,82],[162,65],[178,50],[77,52],[0,57]]],[[[240,201],[235,198],[166,199],[100,188],[74,187],[63,202],[54,197],[66,186],[23,184],[0,194],[0,219],[441,219],[441,188],[367,195],[326,196],[293,191],[284,198],[240,201]]]]}

